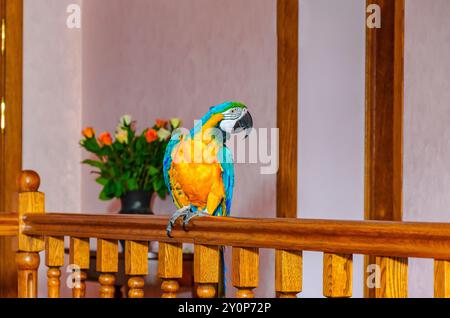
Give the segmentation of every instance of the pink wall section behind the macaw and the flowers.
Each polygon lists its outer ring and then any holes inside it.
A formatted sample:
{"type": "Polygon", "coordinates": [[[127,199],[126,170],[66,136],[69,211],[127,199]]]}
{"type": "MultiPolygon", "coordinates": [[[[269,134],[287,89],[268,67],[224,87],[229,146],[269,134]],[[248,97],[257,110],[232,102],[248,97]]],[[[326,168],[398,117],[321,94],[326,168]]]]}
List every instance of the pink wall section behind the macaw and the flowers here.
{"type": "MultiPolygon", "coordinates": [[[[275,0],[88,0],[83,19],[83,126],[112,130],[130,113],[141,128],[174,116],[192,127],[228,100],[249,105],[256,127],[276,126],[275,0]]],[[[97,200],[88,171],[82,209],[117,211],[97,200]]],[[[275,182],[259,165],[237,166],[233,215],[274,217],[275,182]]],[[[157,214],[173,211],[156,203],[157,214]]],[[[262,252],[259,296],[273,295],[271,255],[262,252]]]]}

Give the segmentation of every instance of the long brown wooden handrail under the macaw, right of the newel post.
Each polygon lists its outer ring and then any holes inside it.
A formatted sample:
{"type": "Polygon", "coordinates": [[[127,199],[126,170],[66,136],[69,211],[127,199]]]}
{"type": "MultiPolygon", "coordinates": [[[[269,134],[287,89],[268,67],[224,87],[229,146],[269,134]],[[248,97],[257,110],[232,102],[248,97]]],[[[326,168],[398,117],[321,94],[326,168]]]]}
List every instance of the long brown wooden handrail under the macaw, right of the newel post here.
{"type": "Polygon", "coordinates": [[[178,224],[171,239],[167,222],[164,216],[25,215],[23,234],[450,260],[445,223],[198,218],[188,232],[178,224]]]}

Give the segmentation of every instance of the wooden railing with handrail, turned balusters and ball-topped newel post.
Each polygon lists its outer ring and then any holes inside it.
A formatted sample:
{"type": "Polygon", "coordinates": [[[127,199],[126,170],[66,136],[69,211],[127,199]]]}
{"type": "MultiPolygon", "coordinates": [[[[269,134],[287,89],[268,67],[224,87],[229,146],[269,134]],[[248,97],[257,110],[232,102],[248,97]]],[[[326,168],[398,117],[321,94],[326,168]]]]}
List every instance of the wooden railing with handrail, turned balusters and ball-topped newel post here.
{"type": "Polygon", "coordinates": [[[22,175],[19,215],[0,217],[1,235],[18,235],[19,296],[37,296],[39,252],[45,250],[48,296],[60,295],[64,237],[70,237],[70,264],[79,283],[73,297],[85,296],[89,240],[97,240],[96,269],[100,297],[114,295],[118,240],[125,240],[128,296],[144,296],[148,275],[148,241],[159,242],[158,275],[162,297],[176,297],[182,277],[182,244],[193,243],[197,295],[215,297],[219,246],[232,248],[232,285],[236,296],[253,297],[258,287],[259,248],[275,249],[275,292],[296,297],[302,291],[302,251],[320,251],[323,294],[352,296],[353,254],[376,256],[380,269],[377,297],[407,297],[408,257],[435,259],[435,296],[450,297],[450,224],[302,219],[198,218],[188,231],[176,226],[166,235],[168,217],[44,213],[44,194],[37,192],[37,174],[22,175]]]}

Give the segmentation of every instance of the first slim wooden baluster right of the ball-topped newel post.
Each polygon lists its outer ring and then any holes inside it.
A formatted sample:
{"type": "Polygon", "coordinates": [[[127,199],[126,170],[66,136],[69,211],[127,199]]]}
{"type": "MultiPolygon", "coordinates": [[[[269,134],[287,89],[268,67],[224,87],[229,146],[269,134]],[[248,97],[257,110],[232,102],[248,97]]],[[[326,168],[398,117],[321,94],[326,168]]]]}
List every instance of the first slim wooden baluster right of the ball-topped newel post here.
{"type": "Polygon", "coordinates": [[[45,265],[48,267],[48,298],[59,298],[60,267],[64,266],[64,237],[47,237],[45,239],[45,265]]]}

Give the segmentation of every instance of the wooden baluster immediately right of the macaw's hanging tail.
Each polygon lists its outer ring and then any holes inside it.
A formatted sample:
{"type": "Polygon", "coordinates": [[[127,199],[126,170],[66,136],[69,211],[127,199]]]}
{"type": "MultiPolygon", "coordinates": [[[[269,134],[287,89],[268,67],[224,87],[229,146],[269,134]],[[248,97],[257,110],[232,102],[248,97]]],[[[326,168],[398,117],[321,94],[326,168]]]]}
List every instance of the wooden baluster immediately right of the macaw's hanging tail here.
{"type": "Polygon", "coordinates": [[[259,250],[257,248],[233,247],[232,279],[237,288],[237,298],[253,298],[258,287],[259,250]]]}

